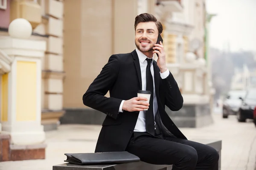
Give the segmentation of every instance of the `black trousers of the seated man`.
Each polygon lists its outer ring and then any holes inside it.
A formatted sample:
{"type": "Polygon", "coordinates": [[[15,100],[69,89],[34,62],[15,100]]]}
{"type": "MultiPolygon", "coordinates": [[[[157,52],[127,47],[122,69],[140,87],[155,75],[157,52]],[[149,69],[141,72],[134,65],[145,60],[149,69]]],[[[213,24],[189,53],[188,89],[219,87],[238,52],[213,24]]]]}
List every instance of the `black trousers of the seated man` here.
{"type": "Polygon", "coordinates": [[[218,170],[214,148],[176,137],[134,132],[126,151],[150,164],[172,164],[172,170],[218,170]]]}

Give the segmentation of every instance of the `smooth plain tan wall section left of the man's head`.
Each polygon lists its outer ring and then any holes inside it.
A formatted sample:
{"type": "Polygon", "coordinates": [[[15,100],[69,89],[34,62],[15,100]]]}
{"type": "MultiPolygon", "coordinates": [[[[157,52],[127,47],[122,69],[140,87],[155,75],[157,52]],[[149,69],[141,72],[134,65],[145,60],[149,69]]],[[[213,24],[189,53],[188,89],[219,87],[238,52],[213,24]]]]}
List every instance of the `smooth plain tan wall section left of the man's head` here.
{"type": "Polygon", "coordinates": [[[137,0],[64,1],[64,108],[85,108],[82,96],[109,57],[136,48],[136,15],[137,0]]]}

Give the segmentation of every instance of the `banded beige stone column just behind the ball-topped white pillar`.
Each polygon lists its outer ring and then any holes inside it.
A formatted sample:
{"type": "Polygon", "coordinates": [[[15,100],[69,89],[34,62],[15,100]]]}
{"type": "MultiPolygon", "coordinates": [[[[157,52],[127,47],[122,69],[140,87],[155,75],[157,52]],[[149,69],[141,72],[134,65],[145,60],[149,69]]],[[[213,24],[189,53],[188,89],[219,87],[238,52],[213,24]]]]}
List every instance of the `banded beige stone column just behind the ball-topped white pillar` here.
{"type": "MultiPolygon", "coordinates": [[[[73,2],[79,3],[78,1],[73,2]]],[[[44,131],[56,130],[63,110],[63,8],[64,2],[59,0],[41,1],[45,6],[45,14],[49,16],[45,24],[47,49],[42,68],[42,115],[41,120],[44,131]]],[[[75,28],[77,25],[74,24],[75,28]]],[[[75,31],[73,31],[74,33],[75,31]]],[[[74,35],[74,34],[73,34],[74,35]]],[[[72,54],[73,55],[73,54],[72,54]]],[[[71,56],[71,55],[69,55],[71,56]]]]}

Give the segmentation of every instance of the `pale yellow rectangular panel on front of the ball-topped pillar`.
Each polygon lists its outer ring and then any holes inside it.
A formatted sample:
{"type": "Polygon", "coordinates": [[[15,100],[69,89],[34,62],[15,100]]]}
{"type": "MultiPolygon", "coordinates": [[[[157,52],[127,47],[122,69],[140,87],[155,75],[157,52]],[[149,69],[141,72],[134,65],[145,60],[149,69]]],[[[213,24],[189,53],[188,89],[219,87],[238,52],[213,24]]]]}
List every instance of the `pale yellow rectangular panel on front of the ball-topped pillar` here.
{"type": "Polygon", "coordinates": [[[16,121],[36,120],[36,67],[36,62],[17,61],[16,121]]]}

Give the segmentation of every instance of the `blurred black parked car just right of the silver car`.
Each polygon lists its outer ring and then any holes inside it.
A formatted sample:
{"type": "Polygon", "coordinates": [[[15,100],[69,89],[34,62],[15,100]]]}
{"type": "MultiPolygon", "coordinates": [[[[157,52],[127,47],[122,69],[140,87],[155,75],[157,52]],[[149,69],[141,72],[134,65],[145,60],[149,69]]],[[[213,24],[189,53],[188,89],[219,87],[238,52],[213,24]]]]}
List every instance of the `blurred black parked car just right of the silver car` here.
{"type": "Polygon", "coordinates": [[[248,89],[244,99],[240,99],[242,104],[237,112],[237,120],[245,122],[246,119],[253,119],[253,110],[256,107],[256,89],[248,89]]]}

